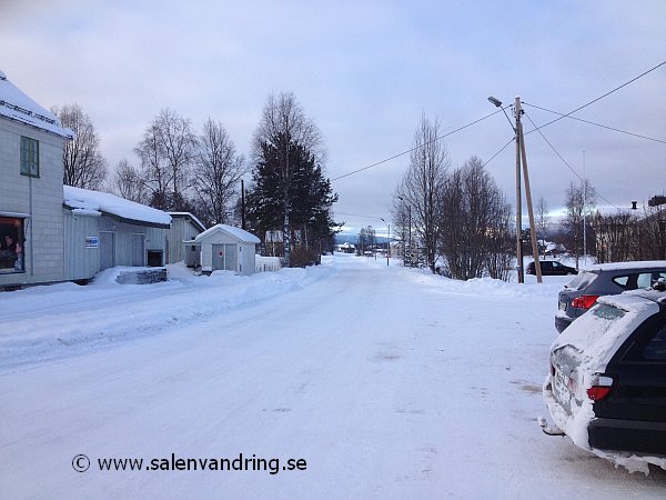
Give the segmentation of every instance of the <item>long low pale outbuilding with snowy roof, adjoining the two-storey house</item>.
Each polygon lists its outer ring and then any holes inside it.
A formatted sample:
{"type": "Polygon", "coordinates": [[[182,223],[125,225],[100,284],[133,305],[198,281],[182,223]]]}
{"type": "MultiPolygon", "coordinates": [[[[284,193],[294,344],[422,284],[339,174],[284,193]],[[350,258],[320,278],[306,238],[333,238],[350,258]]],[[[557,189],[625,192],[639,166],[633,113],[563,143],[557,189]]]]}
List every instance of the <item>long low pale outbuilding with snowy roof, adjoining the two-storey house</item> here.
{"type": "Polygon", "coordinates": [[[115,266],[167,263],[167,212],[107,192],[62,189],[65,279],[87,280],[115,266]]]}

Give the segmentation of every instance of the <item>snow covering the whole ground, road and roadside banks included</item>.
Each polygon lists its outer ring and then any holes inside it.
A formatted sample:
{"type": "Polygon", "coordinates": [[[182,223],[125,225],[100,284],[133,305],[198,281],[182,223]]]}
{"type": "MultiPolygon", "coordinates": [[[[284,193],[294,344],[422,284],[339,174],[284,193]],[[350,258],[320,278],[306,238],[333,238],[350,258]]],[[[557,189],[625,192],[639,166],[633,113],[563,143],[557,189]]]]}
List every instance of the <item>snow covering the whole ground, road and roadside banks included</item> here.
{"type": "Polygon", "coordinates": [[[0,294],[0,498],[666,492],[660,469],[629,474],[536,424],[568,278],[460,282],[345,254],[149,286],[118,272],[0,294]],[[245,470],[209,470],[223,459],[245,470]]]}

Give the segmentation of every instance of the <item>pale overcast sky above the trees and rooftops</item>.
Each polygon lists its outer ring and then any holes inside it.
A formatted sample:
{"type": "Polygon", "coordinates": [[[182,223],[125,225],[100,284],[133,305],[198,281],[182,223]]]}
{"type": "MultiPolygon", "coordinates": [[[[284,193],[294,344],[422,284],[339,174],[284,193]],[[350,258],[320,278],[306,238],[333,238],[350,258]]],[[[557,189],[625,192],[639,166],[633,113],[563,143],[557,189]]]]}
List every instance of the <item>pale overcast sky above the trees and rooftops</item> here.
{"type": "MultiPolygon", "coordinates": [[[[518,94],[567,113],[666,60],[664,0],[0,0],[0,70],[47,108],[80,104],[112,169],[138,166],[133,148],[163,108],[198,129],[221,121],[246,154],[268,96],[292,91],[336,179],[408,150],[422,114],[451,131],[495,111],[488,96],[518,94]]],[[[665,92],[663,66],[575,117],[666,141],[665,92]]],[[[557,118],[525,110],[536,124],[557,118]]],[[[616,207],[666,189],[664,142],[571,119],[543,133],[616,207]]],[[[512,136],[498,113],[445,143],[457,167],[512,136]]],[[[578,179],[538,133],[526,148],[533,199],[555,210],[578,179]]],[[[514,154],[487,164],[512,204],[514,154]]],[[[382,234],[408,161],[334,180],[336,220],[382,234]]]]}

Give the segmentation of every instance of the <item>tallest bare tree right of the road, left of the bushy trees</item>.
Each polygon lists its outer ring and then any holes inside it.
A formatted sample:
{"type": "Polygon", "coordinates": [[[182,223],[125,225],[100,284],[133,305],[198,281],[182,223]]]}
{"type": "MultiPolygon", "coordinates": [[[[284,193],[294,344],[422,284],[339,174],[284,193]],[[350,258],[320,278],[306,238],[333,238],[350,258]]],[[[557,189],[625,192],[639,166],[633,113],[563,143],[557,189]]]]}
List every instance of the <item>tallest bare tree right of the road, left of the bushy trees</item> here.
{"type": "Polygon", "coordinates": [[[441,132],[437,119],[421,118],[414,132],[410,167],[396,189],[396,198],[404,200],[411,210],[412,224],[423,242],[426,264],[433,272],[441,237],[440,201],[451,166],[446,146],[438,140],[441,132]]]}

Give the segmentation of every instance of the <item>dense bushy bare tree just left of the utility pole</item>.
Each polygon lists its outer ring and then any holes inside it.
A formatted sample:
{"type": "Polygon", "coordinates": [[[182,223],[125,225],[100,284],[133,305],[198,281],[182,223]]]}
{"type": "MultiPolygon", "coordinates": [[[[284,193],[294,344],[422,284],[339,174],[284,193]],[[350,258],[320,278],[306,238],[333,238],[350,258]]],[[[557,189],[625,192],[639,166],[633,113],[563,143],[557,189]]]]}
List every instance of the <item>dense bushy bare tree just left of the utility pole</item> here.
{"type": "Polygon", "coordinates": [[[509,207],[477,157],[455,170],[442,197],[442,253],[453,278],[507,279],[509,207]]]}

